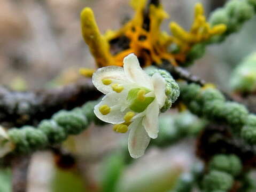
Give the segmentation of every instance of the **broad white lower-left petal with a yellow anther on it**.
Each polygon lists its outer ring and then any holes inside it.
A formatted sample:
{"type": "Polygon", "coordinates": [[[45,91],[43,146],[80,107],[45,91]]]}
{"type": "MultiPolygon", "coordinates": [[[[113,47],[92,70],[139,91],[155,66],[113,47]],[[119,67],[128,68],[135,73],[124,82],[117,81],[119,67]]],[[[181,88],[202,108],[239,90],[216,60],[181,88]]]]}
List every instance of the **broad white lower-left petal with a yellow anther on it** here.
{"type": "Polygon", "coordinates": [[[112,124],[120,124],[125,122],[123,120],[123,117],[125,114],[129,111],[128,106],[126,106],[126,97],[127,92],[123,91],[121,93],[108,93],[105,95],[105,97],[94,107],[94,113],[95,115],[102,121],[112,124]],[[111,107],[110,113],[107,115],[102,115],[99,111],[99,107],[107,105],[111,107]],[[121,110],[123,108],[123,110],[121,110]]]}

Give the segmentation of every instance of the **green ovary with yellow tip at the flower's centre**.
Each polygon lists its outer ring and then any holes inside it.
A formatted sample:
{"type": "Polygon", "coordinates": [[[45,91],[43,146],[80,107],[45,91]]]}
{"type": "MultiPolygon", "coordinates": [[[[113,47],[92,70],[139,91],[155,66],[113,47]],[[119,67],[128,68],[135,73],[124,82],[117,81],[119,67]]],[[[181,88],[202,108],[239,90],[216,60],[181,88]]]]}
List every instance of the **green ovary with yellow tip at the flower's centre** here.
{"type": "Polygon", "coordinates": [[[131,89],[127,96],[129,108],[136,113],[144,111],[154,100],[154,97],[146,97],[146,93],[149,92],[150,90],[146,88],[131,89]]]}

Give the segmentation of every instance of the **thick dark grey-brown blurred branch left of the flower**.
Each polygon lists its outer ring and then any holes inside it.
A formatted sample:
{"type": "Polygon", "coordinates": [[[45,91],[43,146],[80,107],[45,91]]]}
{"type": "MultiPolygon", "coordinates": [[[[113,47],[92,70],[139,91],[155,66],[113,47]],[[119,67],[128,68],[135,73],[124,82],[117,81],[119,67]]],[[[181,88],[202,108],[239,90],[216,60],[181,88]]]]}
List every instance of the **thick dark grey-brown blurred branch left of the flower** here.
{"type": "Polygon", "coordinates": [[[81,106],[100,95],[88,79],[57,89],[25,92],[0,86],[0,124],[6,127],[35,125],[61,109],[81,106]]]}

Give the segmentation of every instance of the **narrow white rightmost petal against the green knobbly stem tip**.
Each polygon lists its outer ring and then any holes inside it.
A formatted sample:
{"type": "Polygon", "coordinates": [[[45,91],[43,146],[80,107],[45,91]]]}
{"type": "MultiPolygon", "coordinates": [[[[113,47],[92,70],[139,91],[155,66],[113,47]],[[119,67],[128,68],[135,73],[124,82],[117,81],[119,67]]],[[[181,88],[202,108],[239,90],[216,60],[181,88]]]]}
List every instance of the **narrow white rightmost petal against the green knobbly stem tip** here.
{"type": "Polygon", "coordinates": [[[162,108],[166,100],[166,94],[165,94],[166,81],[159,73],[155,73],[152,76],[152,81],[154,86],[154,94],[156,95],[159,108],[162,108]]]}

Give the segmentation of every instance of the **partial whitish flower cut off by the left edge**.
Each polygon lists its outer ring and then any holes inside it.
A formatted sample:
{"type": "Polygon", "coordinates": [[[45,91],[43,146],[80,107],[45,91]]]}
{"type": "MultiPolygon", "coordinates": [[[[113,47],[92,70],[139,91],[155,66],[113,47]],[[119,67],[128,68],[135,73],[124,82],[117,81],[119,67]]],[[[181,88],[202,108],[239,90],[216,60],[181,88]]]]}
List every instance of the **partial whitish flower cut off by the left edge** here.
{"type": "Polygon", "coordinates": [[[2,126],[0,126],[0,158],[13,150],[13,144],[2,126]]]}

